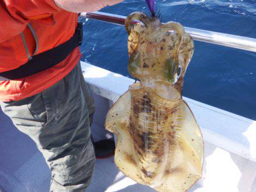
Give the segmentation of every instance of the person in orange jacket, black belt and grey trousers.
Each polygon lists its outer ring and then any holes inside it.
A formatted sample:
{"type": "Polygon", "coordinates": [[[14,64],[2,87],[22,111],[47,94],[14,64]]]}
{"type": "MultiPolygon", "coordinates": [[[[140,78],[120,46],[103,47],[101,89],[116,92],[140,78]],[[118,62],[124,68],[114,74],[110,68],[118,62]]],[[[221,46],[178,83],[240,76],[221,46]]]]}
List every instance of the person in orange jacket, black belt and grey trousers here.
{"type": "Polygon", "coordinates": [[[94,104],[81,72],[77,13],[121,1],[0,2],[0,106],[43,153],[50,191],[84,191],[95,164],[94,104]]]}

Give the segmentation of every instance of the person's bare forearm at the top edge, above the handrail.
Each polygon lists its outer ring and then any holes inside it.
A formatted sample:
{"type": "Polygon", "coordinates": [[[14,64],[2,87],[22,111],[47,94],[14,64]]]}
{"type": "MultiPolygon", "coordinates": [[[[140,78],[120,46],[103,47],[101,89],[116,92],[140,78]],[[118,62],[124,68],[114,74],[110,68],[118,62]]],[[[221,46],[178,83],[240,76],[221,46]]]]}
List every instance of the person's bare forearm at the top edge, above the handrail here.
{"type": "Polygon", "coordinates": [[[53,0],[58,7],[71,12],[93,12],[122,0],[53,0]]]}

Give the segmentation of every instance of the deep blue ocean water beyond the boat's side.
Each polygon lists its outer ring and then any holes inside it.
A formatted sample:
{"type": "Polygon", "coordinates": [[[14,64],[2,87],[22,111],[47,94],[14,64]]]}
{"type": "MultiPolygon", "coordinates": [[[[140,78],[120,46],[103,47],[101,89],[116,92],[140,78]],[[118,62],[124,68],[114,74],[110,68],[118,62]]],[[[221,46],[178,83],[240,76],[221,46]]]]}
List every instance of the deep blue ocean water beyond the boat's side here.
{"type": "MultiPolygon", "coordinates": [[[[155,5],[163,22],[256,38],[256,0],[156,0],[155,5]]],[[[125,16],[148,12],[142,0],[126,0],[101,11],[125,16]]],[[[91,19],[82,22],[82,60],[129,76],[125,27],[91,19]]],[[[256,53],[195,41],[183,95],[255,120],[256,53]]]]}

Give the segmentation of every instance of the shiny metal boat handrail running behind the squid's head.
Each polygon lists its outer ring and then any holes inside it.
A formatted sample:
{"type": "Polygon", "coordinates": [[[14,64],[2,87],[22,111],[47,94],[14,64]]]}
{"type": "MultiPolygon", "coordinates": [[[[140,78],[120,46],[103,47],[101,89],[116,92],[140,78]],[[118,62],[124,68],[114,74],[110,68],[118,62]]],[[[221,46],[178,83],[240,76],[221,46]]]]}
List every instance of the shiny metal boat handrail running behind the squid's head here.
{"type": "MultiPolygon", "coordinates": [[[[123,25],[126,19],[126,16],[99,11],[82,12],[80,16],[119,25],[123,25]]],[[[136,23],[136,21],[134,22],[136,23]]],[[[185,31],[192,36],[193,40],[256,52],[256,39],[237,35],[222,34],[214,31],[199,30],[190,27],[184,28],[185,31]]]]}

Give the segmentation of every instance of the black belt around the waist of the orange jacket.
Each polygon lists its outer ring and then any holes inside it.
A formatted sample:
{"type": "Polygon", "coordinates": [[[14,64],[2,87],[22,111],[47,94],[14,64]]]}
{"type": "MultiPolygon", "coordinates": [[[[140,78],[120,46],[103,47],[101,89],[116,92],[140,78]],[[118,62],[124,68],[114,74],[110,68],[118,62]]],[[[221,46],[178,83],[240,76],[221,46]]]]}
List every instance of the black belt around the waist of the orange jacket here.
{"type": "Polygon", "coordinates": [[[25,78],[42,72],[43,70],[52,68],[65,60],[68,55],[79,47],[82,43],[82,24],[78,23],[75,34],[63,44],[49,49],[43,53],[39,53],[32,57],[31,60],[19,66],[19,68],[9,70],[7,72],[0,73],[0,81],[16,80],[19,78],[25,78]]]}

